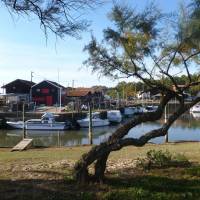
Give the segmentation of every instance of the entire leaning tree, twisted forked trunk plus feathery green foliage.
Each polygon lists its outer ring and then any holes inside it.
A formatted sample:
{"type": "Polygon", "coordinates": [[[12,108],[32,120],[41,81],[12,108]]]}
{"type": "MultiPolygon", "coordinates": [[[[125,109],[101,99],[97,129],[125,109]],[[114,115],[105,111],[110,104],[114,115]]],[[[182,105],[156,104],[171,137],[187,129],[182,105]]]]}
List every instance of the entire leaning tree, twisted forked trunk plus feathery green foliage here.
{"type": "Polygon", "coordinates": [[[162,98],[155,112],[134,117],[106,142],[94,146],[81,157],[75,166],[75,178],[79,183],[91,180],[88,166],[92,163],[95,163],[93,177],[103,181],[111,151],[129,145],[140,147],[150,139],[166,135],[174,121],[200,101],[200,97],[196,97],[191,103],[185,103],[184,98],[184,91],[200,83],[199,75],[192,76],[194,71],[198,74],[195,64],[200,59],[199,35],[196,34],[199,29],[196,28],[198,24],[191,25],[194,19],[199,19],[199,1],[194,0],[186,9],[188,15],[183,20],[181,15],[169,17],[163,14],[152,4],[141,12],[130,6],[115,5],[109,15],[114,26],[104,30],[103,41],[98,42],[92,37],[85,47],[89,54],[85,64],[93,71],[113,78],[132,77],[159,91],[162,98]],[[176,78],[178,74],[184,75],[182,86],[176,78]],[[125,137],[133,127],[160,119],[167,103],[174,98],[179,101],[179,106],[160,128],[139,138],[125,137]]]}

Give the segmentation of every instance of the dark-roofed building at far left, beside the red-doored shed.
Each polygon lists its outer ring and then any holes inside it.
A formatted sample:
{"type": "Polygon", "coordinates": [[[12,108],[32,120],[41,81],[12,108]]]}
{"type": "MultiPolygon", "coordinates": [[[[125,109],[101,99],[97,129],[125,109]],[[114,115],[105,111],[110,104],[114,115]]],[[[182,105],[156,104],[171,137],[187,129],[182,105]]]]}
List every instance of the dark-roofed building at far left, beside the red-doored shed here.
{"type": "Polygon", "coordinates": [[[35,83],[27,80],[16,79],[4,86],[5,94],[1,94],[1,99],[6,104],[16,104],[30,101],[30,89],[35,83]]]}

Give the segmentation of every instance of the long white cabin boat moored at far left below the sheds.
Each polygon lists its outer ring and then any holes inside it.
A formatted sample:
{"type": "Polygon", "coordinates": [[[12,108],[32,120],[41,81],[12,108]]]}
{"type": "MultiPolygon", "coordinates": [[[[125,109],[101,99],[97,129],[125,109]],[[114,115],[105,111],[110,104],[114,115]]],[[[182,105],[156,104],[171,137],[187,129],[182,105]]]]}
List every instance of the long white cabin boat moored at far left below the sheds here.
{"type": "Polygon", "coordinates": [[[70,128],[69,122],[56,122],[52,113],[45,113],[41,119],[30,119],[25,122],[7,122],[9,126],[16,129],[26,130],[66,130],[70,128]]]}

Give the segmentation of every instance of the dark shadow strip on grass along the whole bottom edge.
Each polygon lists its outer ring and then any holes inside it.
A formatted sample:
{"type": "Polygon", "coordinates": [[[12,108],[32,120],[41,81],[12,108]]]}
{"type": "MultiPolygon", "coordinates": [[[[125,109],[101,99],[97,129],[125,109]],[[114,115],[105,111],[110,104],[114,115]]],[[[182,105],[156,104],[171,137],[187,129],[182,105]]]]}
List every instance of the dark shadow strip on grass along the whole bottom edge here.
{"type": "Polygon", "coordinates": [[[49,176],[50,179],[0,180],[0,200],[88,200],[96,199],[97,193],[101,193],[106,200],[169,198],[171,200],[196,200],[200,197],[200,179],[198,177],[174,179],[161,175],[122,174],[119,177],[107,176],[106,184],[103,187],[98,184],[80,187],[71,178],[72,174],[70,173],[69,176],[66,175],[62,179],[56,179],[55,177],[63,175],[63,173],[55,171],[31,171],[31,173],[33,175],[34,173],[40,173],[52,176],[49,176]],[[119,194],[120,191],[123,191],[123,194],[119,194]],[[141,191],[144,191],[145,195],[140,194],[141,191]],[[156,197],[158,194],[161,194],[161,196],[156,197]]]}

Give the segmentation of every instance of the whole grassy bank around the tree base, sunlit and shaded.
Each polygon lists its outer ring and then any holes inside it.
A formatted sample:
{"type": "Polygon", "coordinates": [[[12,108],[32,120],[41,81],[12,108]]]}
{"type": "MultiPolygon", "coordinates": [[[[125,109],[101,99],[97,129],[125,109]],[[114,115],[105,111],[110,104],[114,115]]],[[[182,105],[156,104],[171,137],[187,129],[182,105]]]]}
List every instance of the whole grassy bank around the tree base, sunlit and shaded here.
{"type": "Polygon", "coordinates": [[[0,200],[62,199],[200,199],[200,143],[148,144],[127,147],[109,157],[103,185],[78,186],[72,178],[75,161],[89,146],[0,149],[0,200]],[[151,149],[184,154],[190,167],[144,171],[135,161],[151,149]]]}

